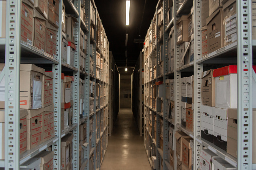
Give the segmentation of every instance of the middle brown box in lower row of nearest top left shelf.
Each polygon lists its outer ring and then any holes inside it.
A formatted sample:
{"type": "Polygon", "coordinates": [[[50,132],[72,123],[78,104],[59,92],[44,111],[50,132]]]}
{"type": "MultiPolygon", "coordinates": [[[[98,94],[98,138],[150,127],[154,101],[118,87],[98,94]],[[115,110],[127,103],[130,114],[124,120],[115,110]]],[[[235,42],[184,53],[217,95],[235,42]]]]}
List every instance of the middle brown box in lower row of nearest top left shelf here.
{"type": "MultiPolygon", "coordinates": [[[[39,1],[39,0],[38,0],[39,1]]],[[[45,51],[45,28],[46,20],[37,10],[33,13],[33,45],[45,51]]]]}

